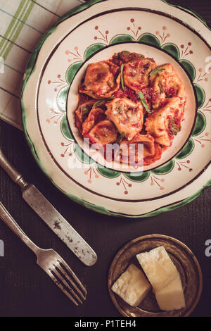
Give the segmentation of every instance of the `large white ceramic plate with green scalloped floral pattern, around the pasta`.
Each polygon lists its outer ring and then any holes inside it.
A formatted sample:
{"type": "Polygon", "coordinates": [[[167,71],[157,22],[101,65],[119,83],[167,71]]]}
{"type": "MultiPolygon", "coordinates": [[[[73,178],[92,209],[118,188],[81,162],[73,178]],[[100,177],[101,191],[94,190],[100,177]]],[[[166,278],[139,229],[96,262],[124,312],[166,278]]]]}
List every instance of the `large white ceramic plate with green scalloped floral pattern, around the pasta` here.
{"type": "Polygon", "coordinates": [[[125,0],[94,0],[65,15],[35,49],[23,82],[23,125],[42,170],[71,199],[109,215],[154,216],[195,199],[211,184],[210,44],[199,18],[161,0],[132,0],[129,7],[125,0]],[[79,73],[121,47],[171,62],[189,96],[184,130],[142,174],[97,165],[76,143],[71,121],[68,90],[79,73]]]}

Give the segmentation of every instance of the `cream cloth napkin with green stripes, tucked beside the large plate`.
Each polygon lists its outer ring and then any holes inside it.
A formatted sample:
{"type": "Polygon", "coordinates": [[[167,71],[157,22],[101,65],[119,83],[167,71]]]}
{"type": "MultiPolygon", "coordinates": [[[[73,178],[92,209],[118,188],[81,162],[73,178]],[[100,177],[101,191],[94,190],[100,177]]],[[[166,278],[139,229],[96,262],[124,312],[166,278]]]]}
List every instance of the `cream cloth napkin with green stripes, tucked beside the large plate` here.
{"type": "Polygon", "coordinates": [[[22,130],[20,87],[44,32],[84,0],[0,0],[0,118],[22,130]]]}

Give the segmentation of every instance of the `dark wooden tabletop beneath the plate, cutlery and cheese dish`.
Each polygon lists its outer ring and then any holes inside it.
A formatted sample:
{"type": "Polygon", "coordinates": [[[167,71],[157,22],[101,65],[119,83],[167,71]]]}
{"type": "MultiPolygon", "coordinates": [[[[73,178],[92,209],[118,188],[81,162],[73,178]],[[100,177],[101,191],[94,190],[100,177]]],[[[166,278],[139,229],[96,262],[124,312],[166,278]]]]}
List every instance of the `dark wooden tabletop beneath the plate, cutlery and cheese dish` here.
{"type": "MultiPolygon", "coordinates": [[[[210,0],[174,3],[192,7],[211,23],[210,0]]],[[[53,187],[34,162],[23,132],[1,122],[0,139],[9,160],[98,254],[95,266],[84,267],[23,201],[19,188],[0,169],[1,201],[8,211],[35,243],[58,251],[89,292],[82,306],[73,306],[36,265],[34,254],[0,221],[0,239],[5,244],[5,256],[0,257],[0,316],[120,316],[108,294],[108,268],[120,247],[135,237],[153,233],[175,237],[196,254],[203,272],[203,294],[192,316],[211,316],[211,257],[205,256],[205,241],[211,239],[211,187],[191,204],[154,218],[127,220],[103,216],[75,204],[53,187]]]]}

